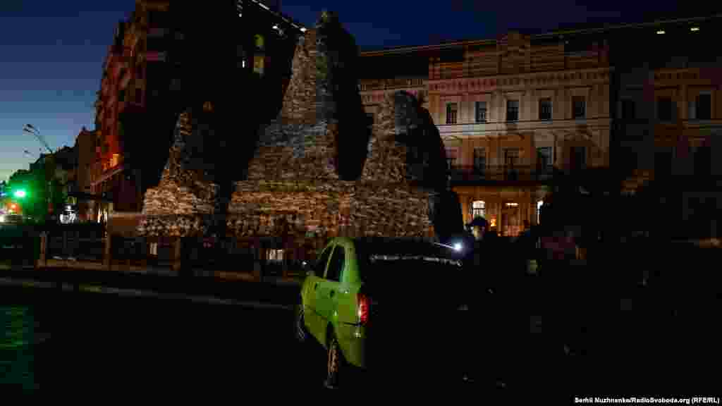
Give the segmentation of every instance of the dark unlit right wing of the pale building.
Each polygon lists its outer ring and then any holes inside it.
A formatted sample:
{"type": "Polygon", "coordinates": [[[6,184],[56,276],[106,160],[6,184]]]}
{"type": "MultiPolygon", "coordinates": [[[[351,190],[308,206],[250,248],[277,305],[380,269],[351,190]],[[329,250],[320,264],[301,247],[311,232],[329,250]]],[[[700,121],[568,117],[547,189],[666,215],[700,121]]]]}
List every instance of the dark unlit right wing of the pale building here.
{"type": "Polygon", "coordinates": [[[625,192],[670,176],[708,177],[721,134],[721,16],[630,27],[614,33],[615,147],[631,173],[625,192]]]}

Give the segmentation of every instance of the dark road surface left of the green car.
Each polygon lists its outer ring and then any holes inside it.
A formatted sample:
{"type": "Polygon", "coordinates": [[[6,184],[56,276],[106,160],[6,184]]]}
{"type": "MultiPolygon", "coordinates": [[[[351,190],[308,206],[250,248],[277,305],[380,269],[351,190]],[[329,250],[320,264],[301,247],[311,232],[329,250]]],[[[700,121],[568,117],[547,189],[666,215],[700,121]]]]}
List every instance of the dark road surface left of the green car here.
{"type": "Polygon", "coordinates": [[[227,392],[310,378],[295,368],[290,311],[32,288],[2,296],[3,384],[227,392]]]}

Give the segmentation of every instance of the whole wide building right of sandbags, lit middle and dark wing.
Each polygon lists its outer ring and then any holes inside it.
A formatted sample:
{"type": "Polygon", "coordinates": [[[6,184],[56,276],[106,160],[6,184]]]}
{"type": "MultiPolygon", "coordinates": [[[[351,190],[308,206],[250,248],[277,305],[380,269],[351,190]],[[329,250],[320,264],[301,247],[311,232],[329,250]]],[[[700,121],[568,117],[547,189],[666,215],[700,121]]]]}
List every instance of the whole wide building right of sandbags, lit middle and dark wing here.
{"type": "Polygon", "coordinates": [[[720,196],[711,185],[722,173],[721,21],[366,51],[360,91],[370,119],[383,92],[423,96],[464,220],[483,215],[501,235],[538,223],[544,196],[563,177],[627,194],[674,183],[685,191],[674,197],[680,209],[669,207],[673,217],[712,218],[720,196]]]}

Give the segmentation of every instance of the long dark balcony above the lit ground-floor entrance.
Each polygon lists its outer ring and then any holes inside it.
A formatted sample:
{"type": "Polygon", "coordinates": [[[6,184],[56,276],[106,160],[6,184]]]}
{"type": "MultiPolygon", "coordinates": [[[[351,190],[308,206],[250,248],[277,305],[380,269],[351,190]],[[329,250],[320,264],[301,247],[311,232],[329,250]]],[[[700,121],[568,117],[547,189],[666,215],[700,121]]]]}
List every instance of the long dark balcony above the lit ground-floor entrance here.
{"type": "Polygon", "coordinates": [[[463,185],[469,183],[539,183],[551,181],[554,167],[537,168],[531,165],[485,166],[455,165],[448,171],[451,183],[463,185]]]}

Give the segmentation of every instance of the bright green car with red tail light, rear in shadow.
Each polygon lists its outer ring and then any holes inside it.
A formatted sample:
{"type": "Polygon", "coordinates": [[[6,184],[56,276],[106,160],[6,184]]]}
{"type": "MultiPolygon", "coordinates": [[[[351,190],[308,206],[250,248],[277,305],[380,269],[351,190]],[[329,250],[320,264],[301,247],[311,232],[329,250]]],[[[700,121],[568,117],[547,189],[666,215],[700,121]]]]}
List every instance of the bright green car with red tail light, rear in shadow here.
{"type": "Polygon", "coordinates": [[[307,269],[295,313],[297,340],[326,349],[327,387],[352,384],[356,372],[426,371],[448,358],[442,343],[454,333],[444,323],[453,318],[441,311],[461,305],[445,295],[462,269],[457,250],[420,238],[328,243],[307,269]]]}

